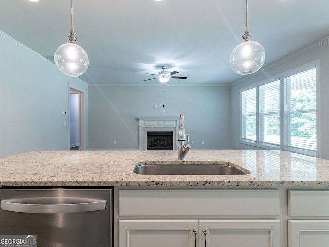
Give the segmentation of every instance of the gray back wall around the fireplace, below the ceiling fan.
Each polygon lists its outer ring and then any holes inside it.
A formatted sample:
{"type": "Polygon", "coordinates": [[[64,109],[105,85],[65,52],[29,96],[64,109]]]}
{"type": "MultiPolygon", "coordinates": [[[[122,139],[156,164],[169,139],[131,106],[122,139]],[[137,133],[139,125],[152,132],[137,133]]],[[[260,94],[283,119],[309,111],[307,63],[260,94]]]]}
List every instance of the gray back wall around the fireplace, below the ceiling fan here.
{"type": "Polygon", "coordinates": [[[230,148],[230,97],[229,86],[175,86],[174,80],[166,86],[89,86],[89,149],[137,150],[137,117],[180,113],[193,149],[230,148]]]}

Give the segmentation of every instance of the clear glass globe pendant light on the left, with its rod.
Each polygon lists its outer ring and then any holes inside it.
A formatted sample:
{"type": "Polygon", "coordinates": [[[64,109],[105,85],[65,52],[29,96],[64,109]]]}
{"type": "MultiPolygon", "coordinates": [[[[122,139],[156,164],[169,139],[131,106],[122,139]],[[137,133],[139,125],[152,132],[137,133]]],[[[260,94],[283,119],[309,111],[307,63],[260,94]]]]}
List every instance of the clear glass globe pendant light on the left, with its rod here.
{"type": "Polygon", "coordinates": [[[77,37],[73,29],[73,0],[71,0],[71,31],[68,35],[69,43],[57,48],[54,61],[58,69],[69,77],[79,77],[86,72],[89,66],[89,58],[86,51],[74,43],[77,37]]]}

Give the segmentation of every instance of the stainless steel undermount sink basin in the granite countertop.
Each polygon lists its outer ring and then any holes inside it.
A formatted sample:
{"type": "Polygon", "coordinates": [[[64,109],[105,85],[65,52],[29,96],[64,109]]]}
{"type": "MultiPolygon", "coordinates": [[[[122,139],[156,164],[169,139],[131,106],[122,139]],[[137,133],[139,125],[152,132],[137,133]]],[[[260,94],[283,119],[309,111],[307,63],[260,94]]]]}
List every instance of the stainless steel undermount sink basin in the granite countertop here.
{"type": "Polygon", "coordinates": [[[229,164],[142,164],[137,163],[134,173],[143,175],[243,175],[250,172],[229,164]]]}

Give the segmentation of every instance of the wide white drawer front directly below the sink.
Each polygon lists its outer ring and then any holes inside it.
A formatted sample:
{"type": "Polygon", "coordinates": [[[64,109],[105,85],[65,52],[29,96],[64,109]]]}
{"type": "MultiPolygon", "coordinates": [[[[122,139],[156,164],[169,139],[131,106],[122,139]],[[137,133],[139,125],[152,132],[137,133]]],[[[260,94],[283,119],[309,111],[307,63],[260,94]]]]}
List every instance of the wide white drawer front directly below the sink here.
{"type": "Polygon", "coordinates": [[[278,190],[120,190],[120,216],[278,216],[278,190]]]}

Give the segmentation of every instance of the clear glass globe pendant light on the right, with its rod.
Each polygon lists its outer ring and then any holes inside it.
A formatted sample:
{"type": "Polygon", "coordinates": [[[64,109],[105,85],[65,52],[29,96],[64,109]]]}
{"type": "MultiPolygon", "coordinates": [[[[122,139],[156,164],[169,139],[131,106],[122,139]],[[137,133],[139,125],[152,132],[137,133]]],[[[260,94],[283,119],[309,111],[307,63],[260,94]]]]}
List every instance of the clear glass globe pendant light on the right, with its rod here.
{"type": "Polygon", "coordinates": [[[265,62],[265,49],[255,41],[249,41],[248,30],[248,0],[246,0],[246,26],[242,35],[245,40],[237,45],[230,55],[230,65],[234,72],[242,75],[252,74],[258,71],[265,62]]]}

